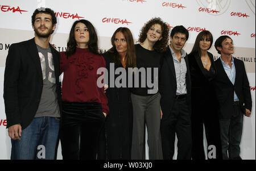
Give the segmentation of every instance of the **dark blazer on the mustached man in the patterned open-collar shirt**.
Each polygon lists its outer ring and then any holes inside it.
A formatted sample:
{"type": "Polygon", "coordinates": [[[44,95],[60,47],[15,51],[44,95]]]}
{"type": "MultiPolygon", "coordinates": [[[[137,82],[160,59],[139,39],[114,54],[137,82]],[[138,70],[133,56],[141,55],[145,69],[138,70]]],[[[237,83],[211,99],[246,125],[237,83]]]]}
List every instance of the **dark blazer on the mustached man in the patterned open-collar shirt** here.
{"type": "MultiPolygon", "coordinates": [[[[191,113],[191,77],[189,73],[188,55],[185,56],[187,66],[186,85],[187,85],[187,103],[189,106],[189,113],[191,113]]],[[[160,105],[163,112],[163,118],[167,119],[171,113],[174,105],[177,90],[176,73],[174,68],[174,60],[170,48],[163,55],[160,60],[159,73],[159,93],[161,94],[160,105]]]]}

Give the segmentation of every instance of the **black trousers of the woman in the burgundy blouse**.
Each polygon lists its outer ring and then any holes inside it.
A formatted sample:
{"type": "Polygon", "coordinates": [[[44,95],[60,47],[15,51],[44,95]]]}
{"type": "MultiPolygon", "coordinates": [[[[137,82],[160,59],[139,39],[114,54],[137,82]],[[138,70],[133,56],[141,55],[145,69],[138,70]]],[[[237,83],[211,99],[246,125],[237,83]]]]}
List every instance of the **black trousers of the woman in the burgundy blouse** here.
{"type": "Polygon", "coordinates": [[[63,102],[63,159],[96,159],[98,138],[104,122],[100,103],[63,102]]]}

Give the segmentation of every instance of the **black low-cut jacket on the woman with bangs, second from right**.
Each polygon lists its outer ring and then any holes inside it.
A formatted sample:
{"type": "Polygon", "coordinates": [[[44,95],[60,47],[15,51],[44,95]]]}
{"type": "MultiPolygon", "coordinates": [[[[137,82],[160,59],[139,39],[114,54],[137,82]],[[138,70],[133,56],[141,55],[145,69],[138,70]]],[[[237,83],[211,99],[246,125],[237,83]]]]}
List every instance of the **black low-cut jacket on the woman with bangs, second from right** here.
{"type": "MultiPolygon", "coordinates": [[[[202,111],[202,109],[217,109],[217,98],[213,85],[213,80],[217,75],[217,70],[212,53],[207,53],[210,61],[212,62],[211,68],[215,70],[215,74],[213,74],[213,77],[211,78],[207,78],[205,75],[205,69],[201,62],[199,53],[190,53],[188,55],[191,74],[192,112],[203,112],[203,114],[205,114],[205,111],[202,111]]],[[[215,111],[215,114],[217,114],[217,111],[215,111]]],[[[198,115],[198,113],[196,115],[198,115]]]]}

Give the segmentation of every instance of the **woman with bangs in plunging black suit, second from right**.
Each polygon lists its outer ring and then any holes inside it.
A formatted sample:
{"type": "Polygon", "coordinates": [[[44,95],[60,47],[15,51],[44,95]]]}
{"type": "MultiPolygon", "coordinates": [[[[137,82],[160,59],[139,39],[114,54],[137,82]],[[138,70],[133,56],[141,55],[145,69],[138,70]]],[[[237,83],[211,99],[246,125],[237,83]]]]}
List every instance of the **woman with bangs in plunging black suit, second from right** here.
{"type": "Polygon", "coordinates": [[[205,159],[203,145],[203,125],[208,144],[208,159],[221,159],[220,130],[217,115],[217,99],[213,88],[216,68],[212,53],[213,36],[209,31],[201,31],[196,37],[188,55],[191,73],[192,98],[192,159],[205,159]],[[210,146],[214,145],[214,146],[210,146]]]}

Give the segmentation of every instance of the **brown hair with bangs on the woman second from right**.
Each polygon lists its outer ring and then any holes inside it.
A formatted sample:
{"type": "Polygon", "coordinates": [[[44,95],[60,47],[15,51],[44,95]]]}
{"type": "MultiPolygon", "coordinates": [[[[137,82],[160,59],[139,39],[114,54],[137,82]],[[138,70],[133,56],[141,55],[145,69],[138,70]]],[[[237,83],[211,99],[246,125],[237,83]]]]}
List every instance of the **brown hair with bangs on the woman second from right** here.
{"type": "MultiPolygon", "coordinates": [[[[200,43],[201,39],[204,39],[204,38],[209,38],[210,39],[210,47],[212,47],[212,43],[213,43],[212,34],[209,31],[204,30],[204,31],[201,31],[197,35],[196,41],[195,41],[195,43],[193,45],[191,53],[199,53],[199,54],[201,53],[201,50],[200,50],[200,47],[199,47],[199,43],[200,43]]],[[[209,49],[210,49],[210,47],[209,47],[209,49]]]]}

